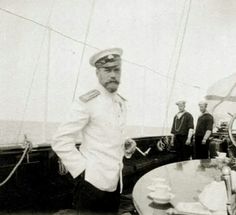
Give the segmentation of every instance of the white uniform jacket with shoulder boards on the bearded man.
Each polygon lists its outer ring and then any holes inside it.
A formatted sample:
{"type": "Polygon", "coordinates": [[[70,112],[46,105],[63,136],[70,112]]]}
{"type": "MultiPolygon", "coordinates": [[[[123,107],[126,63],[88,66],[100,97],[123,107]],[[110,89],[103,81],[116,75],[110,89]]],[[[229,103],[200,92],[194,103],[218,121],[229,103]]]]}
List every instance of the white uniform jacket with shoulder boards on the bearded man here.
{"type": "Polygon", "coordinates": [[[123,168],[125,122],[125,99],[99,85],[73,102],[52,148],[74,178],[85,170],[86,181],[100,190],[114,191],[123,168]],[[79,150],[78,134],[82,137],[79,150]]]}

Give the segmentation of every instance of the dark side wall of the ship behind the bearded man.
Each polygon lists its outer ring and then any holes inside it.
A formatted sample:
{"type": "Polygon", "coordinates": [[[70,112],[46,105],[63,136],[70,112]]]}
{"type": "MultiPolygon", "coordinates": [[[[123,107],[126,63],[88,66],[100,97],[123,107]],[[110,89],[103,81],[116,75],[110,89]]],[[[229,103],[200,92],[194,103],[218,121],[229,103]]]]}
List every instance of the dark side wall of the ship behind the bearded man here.
{"type": "MultiPolygon", "coordinates": [[[[146,172],[158,166],[175,162],[173,152],[160,152],[156,143],[161,137],[135,139],[142,151],[137,151],[131,159],[124,159],[124,194],[130,194],[136,181],[146,172]]],[[[3,181],[19,160],[22,150],[0,151],[0,181],[3,181]]],[[[24,159],[13,177],[0,187],[0,211],[2,212],[42,212],[51,213],[72,208],[74,179],[60,175],[58,159],[50,147],[38,147],[24,159]]],[[[1,214],[1,212],[0,212],[1,214]]]]}

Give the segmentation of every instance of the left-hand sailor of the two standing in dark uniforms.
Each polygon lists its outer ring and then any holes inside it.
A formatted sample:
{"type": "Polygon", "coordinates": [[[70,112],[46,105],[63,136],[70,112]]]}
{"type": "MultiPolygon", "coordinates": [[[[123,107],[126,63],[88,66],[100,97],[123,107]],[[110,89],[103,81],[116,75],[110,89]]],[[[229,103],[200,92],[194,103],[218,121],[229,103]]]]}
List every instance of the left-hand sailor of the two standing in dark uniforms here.
{"type": "Polygon", "coordinates": [[[171,143],[177,152],[178,160],[189,160],[192,155],[193,117],[185,110],[185,101],[178,101],[179,112],[175,115],[171,129],[171,143]]]}

